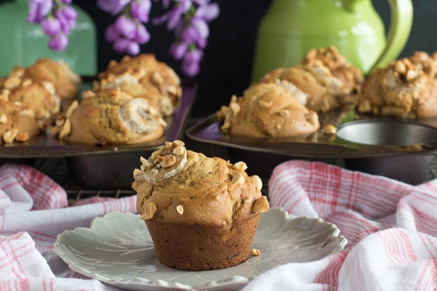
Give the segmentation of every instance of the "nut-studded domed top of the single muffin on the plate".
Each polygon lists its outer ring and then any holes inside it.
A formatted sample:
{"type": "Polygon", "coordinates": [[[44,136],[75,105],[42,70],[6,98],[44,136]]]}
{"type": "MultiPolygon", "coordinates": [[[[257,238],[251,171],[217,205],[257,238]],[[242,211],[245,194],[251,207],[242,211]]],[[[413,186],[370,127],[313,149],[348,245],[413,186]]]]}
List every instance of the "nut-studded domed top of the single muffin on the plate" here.
{"type": "Polygon", "coordinates": [[[231,229],[268,210],[258,176],[244,162],[231,164],[166,142],[133,172],[137,210],[143,220],[231,229]]]}

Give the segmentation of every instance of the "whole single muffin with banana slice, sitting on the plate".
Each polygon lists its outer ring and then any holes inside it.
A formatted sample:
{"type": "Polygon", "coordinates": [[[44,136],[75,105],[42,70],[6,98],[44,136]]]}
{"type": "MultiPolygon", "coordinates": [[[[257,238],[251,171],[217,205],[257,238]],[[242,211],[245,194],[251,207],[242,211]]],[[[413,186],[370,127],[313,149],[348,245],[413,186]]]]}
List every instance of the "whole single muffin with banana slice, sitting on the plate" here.
{"type": "Polygon", "coordinates": [[[245,163],[187,151],[179,140],[141,162],[132,188],[160,262],[203,271],[247,259],[268,202],[261,179],[249,177],[245,163]]]}

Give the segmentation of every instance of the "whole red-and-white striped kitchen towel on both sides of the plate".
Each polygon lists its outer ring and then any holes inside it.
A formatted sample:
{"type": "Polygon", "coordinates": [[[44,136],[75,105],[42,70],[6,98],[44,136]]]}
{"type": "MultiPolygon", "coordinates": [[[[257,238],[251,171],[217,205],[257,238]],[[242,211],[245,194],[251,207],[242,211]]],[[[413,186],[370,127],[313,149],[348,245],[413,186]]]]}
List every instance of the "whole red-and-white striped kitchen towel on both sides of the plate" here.
{"type": "MultiPolygon", "coordinates": [[[[244,290],[437,289],[437,181],[411,186],[289,161],[274,169],[268,186],[271,206],[334,223],[349,244],[315,262],[278,266],[244,290]]],[[[61,187],[22,165],[0,167],[0,189],[1,290],[117,289],[68,269],[53,244],[63,230],[89,227],[96,216],[136,212],[135,196],[66,207],[61,187]]]]}

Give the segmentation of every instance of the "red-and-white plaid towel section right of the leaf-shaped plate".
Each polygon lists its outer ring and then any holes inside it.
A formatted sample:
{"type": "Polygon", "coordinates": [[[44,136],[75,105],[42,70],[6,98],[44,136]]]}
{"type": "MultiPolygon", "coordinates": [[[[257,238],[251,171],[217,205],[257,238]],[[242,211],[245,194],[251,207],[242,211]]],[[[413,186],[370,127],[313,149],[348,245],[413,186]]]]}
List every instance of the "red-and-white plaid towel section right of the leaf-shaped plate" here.
{"type": "Polygon", "coordinates": [[[270,205],[334,223],[349,244],[274,268],[244,290],[436,290],[436,193],[435,180],[411,186],[319,162],[277,166],[270,205]]]}

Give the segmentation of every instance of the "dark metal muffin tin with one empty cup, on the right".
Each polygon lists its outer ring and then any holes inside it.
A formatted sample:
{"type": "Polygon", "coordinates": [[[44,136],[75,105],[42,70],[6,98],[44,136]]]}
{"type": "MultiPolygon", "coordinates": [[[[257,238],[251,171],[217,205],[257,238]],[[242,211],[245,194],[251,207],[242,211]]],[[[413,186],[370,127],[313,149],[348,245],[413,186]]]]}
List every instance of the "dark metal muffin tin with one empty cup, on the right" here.
{"type": "Polygon", "coordinates": [[[318,132],[291,138],[254,138],[224,134],[211,115],[186,131],[199,142],[228,147],[231,158],[244,160],[250,174],[268,179],[275,166],[293,159],[343,159],[347,168],[418,184],[426,178],[437,152],[435,120],[400,120],[356,115],[344,107],[319,115],[321,128],[333,124],[337,135],[318,132]]]}

